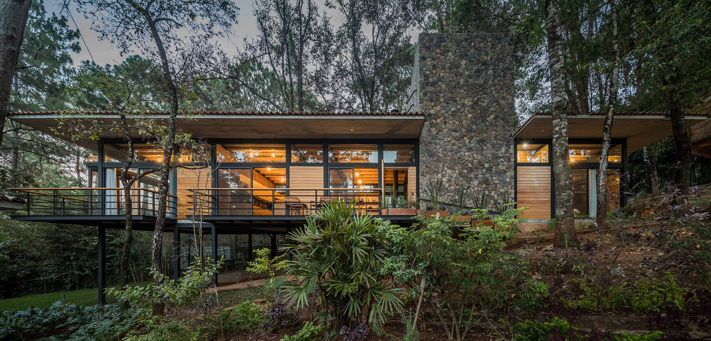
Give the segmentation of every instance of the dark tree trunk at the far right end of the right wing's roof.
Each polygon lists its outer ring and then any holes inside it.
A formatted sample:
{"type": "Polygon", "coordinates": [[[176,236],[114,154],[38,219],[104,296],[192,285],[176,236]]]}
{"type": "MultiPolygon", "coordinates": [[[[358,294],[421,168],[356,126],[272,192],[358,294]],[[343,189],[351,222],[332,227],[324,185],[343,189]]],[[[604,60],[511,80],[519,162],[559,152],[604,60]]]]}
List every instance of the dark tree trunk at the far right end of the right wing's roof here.
{"type": "Polygon", "coordinates": [[[674,133],[674,147],[676,150],[676,182],[679,184],[683,194],[689,194],[689,182],[691,181],[691,139],[686,130],[684,121],[684,107],[680,100],[674,98],[673,93],[668,94],[669,116],[671,117],[671,128],[674,133]]]}

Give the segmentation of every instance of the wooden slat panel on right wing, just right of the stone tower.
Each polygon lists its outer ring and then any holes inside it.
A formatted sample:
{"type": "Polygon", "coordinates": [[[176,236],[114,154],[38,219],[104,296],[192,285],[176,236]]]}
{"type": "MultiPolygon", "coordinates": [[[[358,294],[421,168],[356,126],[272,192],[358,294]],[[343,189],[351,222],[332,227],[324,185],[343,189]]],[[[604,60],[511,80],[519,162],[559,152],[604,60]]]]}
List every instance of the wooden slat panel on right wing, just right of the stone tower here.
{"type": "Polygon", "coordinates": [[[522,218],[550,219],[550,167],[517,167],[516,194],[518,207],[528,207],[522,218]]]}

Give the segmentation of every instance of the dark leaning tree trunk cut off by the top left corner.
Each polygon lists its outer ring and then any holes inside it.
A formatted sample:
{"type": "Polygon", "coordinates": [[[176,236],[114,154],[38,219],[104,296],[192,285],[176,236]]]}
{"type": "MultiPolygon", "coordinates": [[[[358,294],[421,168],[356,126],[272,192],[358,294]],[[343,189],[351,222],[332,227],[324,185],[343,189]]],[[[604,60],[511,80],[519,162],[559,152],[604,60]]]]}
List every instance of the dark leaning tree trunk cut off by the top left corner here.
{"type": "Polygon", "coordinates": [[[0,147],[30,4],[32,0],[0,1],[0,147]]]}

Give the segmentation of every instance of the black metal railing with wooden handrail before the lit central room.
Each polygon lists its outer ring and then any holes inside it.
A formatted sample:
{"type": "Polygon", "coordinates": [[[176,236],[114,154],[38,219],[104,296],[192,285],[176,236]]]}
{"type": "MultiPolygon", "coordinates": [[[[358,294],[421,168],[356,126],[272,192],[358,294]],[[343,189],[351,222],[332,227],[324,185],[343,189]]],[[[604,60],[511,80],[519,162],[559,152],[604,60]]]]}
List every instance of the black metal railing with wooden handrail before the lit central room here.
{"type": "Polygon", "coordinates": [[[355,203],[361,214],[378,214],[383,189],[208,188],[188,189],[193,216],[305,216],[329,201],[355,203]]]}

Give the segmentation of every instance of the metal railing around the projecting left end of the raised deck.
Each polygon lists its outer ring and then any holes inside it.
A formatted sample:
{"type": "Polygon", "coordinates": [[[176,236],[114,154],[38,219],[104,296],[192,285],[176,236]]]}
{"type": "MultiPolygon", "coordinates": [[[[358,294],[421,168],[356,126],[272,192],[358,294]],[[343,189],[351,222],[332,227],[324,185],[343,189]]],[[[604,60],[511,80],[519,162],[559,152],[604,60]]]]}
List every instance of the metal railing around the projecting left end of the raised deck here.
{"type": "MultiPolygon", "coordinates": [[[[95,188],[10,188],[27,201],[18,214],[28,216],[123,216],[124,189],[95,188]]],[[[159,194],[153,189],[131,189],[131,214],[156,216],[159,194]]],[[[176,218],[177,198],[168,194],[166,217],[176,218]]]]}

